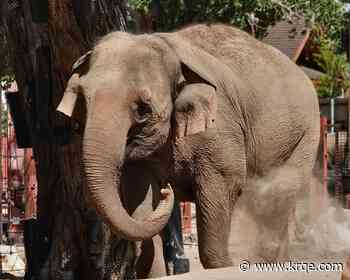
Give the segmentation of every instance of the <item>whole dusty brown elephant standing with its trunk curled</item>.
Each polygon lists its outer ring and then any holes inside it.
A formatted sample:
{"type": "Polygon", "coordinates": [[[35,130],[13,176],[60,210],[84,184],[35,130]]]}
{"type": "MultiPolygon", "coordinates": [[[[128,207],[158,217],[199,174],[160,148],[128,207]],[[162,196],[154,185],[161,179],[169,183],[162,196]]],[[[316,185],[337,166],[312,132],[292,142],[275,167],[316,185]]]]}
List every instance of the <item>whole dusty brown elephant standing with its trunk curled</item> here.
{"type": "Polygon", "coordinates": [[[225,24],[112,32],[74,66],[57,110],[72,116],[76,102],[86,103],[88,193],[114,233],[150,240],[169,219],[174,196],[193,201],[202,265],[231,266],[239,194],[252,179],[295,170],[297,180],[268,188],[289,191],[269,205],[285,225],[264,221],[271,250],[282,250],[276,244],[294,207],[290,198],[308,188],[320,134],[314,86],[287,56],[225,24]],[[162,188],[167,183],[173,189],[162,188]],[[149,186],[152,209],[135,215],[143,202],[134,196],[145,198],[149,186]]]}

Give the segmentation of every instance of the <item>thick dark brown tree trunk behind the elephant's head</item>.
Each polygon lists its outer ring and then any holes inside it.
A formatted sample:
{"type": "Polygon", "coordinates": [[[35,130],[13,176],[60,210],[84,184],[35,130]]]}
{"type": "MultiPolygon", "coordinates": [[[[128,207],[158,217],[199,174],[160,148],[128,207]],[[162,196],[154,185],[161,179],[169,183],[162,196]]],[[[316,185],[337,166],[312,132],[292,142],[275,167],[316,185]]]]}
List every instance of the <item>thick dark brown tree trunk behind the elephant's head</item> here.
{"type": "Polygon", "coordinates": [[[39,279],[104,279],[108,232],[89,207],[81,166],[84,104],[78,102],[72,120],[56,107],[74,61],[98,37],[126,29],[126,3],[8,3],[7,35],[37,163],[40,265],[35,273],[39,279]]]}

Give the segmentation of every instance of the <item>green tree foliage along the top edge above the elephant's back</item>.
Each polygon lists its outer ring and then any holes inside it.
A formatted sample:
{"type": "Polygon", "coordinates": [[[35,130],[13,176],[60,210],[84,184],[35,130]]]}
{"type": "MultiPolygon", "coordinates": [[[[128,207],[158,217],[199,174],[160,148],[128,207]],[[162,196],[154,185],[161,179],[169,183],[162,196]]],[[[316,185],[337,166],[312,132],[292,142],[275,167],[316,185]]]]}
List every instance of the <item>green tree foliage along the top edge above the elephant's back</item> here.
{"type": "Polygon", "coordinates": [[[345,21],[343,4],[337,0],[130,0],[129,5],[146,13],[160,9],[159,30],[190,22],[224,22],[259,36],[276,20],[303,13],[326,27],[333,40],[340,40],[345,21]]]}

